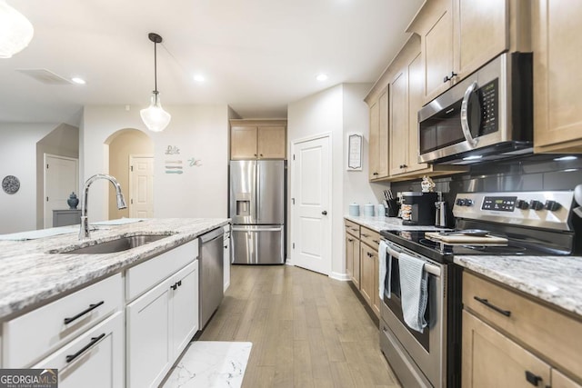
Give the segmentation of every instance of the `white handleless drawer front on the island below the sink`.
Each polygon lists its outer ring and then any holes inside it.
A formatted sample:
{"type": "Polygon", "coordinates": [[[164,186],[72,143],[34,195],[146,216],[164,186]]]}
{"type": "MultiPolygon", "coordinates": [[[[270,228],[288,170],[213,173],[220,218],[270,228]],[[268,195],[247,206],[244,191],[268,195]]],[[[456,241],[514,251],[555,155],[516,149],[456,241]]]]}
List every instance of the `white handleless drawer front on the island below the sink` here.
{"type": "Polygon", "coordinates": [[[198,239],[177,246],[125,272],[127,302],[162,282],[168,276],[192,263],[198,257],[198,239]]]}

